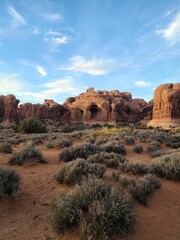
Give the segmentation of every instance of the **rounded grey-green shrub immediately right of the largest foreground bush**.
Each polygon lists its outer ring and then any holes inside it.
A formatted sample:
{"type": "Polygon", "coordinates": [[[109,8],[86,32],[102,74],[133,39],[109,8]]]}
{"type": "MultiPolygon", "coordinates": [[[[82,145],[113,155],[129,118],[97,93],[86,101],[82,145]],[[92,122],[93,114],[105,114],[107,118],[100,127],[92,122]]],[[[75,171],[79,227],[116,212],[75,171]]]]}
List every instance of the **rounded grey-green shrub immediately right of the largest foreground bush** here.
{"type": "Polygon", "coordinates": [[[159,179],[148,174],[141,179],[134,181],[129,187],[129,192],[135,200],[146,206],[148,199],[160,187],[161,183],[159,179]]]}

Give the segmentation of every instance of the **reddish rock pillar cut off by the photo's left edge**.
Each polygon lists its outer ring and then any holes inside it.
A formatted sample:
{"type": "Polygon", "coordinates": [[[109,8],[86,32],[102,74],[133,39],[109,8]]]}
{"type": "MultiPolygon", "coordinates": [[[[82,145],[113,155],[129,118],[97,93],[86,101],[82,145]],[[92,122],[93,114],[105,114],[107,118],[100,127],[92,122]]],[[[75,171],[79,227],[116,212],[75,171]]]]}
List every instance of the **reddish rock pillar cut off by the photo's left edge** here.
{"type": "Polygon", "coordinates": [[[19,100],[12,94],[0,96],[0,118],[3,119],[1,126],[16,125],[18,103],[19,100]]]}

